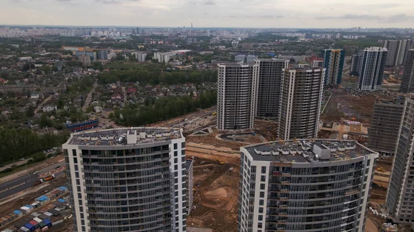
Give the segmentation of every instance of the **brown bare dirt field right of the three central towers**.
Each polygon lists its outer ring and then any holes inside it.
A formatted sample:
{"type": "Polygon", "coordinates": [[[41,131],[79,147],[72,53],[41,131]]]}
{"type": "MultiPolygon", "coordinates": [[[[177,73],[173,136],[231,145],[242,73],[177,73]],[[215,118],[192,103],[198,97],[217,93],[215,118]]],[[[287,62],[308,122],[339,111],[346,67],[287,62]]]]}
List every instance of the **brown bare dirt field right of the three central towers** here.
{"type": "Polygon", "coordinates": [[[333,89],[333,96],[326,105],[321,120],[357,120],[361,123],[369,123],[373,115],[374,104],[374,94],[368,93],[362,97],[348,96],[340,89],[333,89]]]}

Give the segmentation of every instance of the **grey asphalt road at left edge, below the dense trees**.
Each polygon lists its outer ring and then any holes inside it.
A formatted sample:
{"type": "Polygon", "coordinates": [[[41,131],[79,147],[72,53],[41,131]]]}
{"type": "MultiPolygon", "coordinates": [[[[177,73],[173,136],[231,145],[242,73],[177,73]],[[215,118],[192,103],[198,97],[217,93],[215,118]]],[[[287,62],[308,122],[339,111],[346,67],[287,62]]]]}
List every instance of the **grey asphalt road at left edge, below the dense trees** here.
{"type": "MultiPolygon", "coordinates": [[[[30,189],[30,187],[33,186],[33,183],[39,180],[39,176],[43,173],[48,173],[49,171],[52,171],[57,166],[63,167],[65,165],[65,162],[58,162],[55,165],[51,165],[49,167],[46,167],[44,169],[39,170],[39,173],[34,175],[33,173],[29,173],[29,175],[21,176],[19,178],[16,178],[14,180],[10,180],[8,182],[4,182],[0,184],[0,200],[3,198],[7,198],[8,196],[12,196],[16,193],[19,193],[20,191],[30,189]]],[[[55,173],[55,176],[61,176],[63,175],[63,171],[59,171],[55,173]]]]}

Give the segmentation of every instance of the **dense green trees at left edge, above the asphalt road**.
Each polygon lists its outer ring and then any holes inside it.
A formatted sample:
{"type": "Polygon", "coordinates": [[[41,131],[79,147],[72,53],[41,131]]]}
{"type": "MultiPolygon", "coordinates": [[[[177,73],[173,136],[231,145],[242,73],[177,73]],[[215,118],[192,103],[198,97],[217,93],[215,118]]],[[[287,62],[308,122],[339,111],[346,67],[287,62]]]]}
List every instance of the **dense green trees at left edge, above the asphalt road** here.
{"type": "Polygon", "coordinates": [[[8,160],[18,160],[44,149],[61,146],[67,137],[64,135],[38,136],[30,129],[1,129],[0,130],[0,163],[8,160]]]}

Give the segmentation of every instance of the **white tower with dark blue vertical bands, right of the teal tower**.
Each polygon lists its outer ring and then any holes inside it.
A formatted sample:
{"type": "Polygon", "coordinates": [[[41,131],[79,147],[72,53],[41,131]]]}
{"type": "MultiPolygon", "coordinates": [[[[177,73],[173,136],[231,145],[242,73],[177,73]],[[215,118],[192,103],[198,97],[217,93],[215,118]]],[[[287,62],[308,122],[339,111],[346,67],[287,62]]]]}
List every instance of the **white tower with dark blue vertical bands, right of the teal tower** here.
{"type": "Polygon", "coordinates": [[[359,66],[358,89],[362,91],[380,90],[388,50],[386,48],[365,48],[359,66]]]}

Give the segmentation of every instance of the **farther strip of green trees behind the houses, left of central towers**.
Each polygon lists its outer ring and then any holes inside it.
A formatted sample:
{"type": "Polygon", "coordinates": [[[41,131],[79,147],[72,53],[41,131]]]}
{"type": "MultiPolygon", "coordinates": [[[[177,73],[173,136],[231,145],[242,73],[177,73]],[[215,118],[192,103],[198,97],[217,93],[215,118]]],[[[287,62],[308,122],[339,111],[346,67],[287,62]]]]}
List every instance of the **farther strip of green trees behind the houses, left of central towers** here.
{"type": "Polygon", "coordinates": [[[213,70],[206,71],[171,71],[161,72],[159,69],[142,69],[142,70],[110,70],[103,72],[98,76],[99,81],[103,84],[121,82],[139,82],[140,85],[175,85],[181,83],[203,83],[217,82],[217,72],[213,70]]]}

